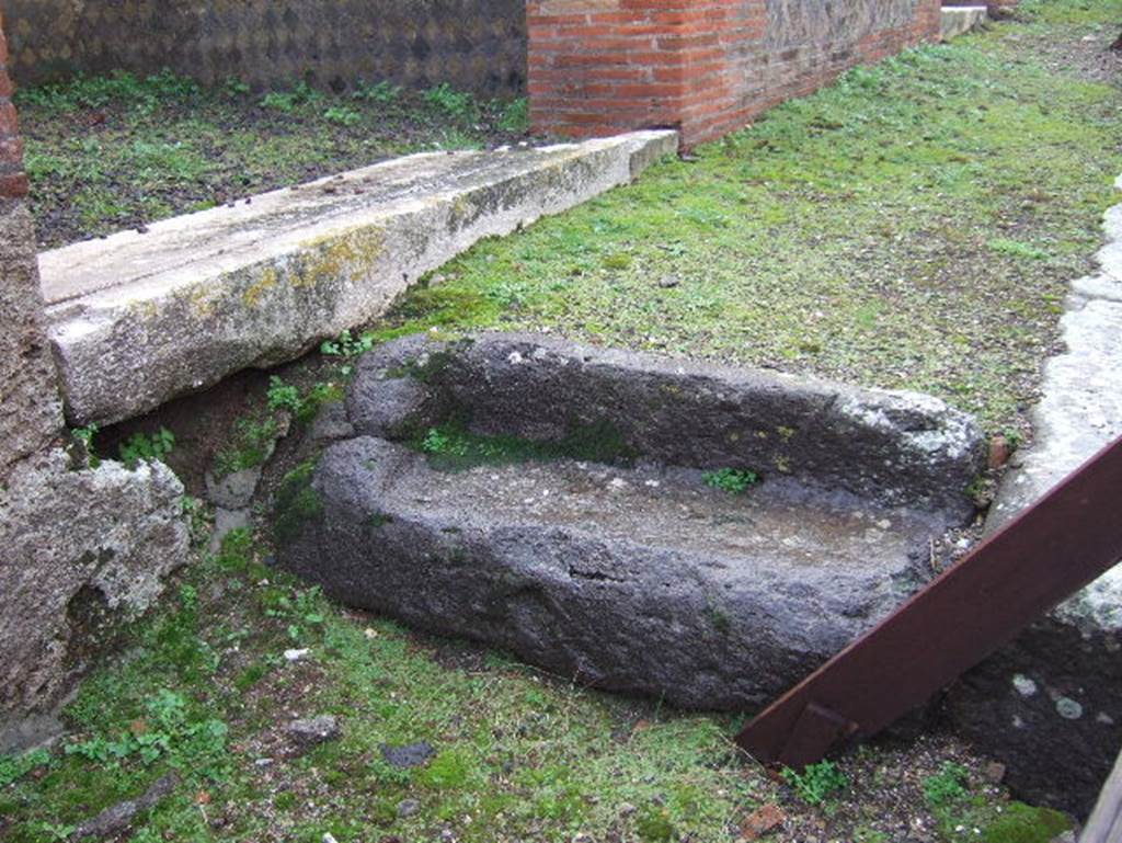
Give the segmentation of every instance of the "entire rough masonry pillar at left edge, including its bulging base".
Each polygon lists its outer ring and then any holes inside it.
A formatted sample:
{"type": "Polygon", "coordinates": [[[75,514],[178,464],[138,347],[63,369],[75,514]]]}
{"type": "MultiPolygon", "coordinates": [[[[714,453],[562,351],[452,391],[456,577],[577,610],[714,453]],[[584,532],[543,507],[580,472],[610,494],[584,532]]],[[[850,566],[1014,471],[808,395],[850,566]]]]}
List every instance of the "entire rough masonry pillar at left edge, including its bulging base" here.
{"type": "MultiPolygon", "coordinates": [[[[0,16],[2,17],[2,16],[0,16]]],[[[0,753],[42,740],[121,620],[187,560],[183,486],[163,465],[72,465],[0,19],[0,753]]]]}

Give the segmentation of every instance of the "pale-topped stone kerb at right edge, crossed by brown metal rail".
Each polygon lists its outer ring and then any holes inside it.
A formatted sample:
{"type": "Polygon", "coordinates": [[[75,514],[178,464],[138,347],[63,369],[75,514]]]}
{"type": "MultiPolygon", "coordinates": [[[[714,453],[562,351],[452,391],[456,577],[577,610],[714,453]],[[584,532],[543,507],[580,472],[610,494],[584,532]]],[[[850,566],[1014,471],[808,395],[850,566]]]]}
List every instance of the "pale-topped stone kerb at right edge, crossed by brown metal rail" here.
{"type": "MultiPolygon", "coordinates": [[[[1122,190],[1122,176],[1116,181],[1122,190]]],[[[1072,285],[1066,351],[1045,367],[1033,441],[991,508],[995,530],[1122,437],[1122,204],[1104,218],[1098,272],[1072,285]]],[[[1122,489],[1103,517],[1116,517],[1122,489]],[[1112,508],[1111,508],[1112,507],[1112,508]]],[[[1122,566],[1115,566],[951,688],[948,713],[1031,800],[1086,815],[1122,745],[1122,566]],[[1047,758],[1047,766],[1039,760],[1047,758]]]]}

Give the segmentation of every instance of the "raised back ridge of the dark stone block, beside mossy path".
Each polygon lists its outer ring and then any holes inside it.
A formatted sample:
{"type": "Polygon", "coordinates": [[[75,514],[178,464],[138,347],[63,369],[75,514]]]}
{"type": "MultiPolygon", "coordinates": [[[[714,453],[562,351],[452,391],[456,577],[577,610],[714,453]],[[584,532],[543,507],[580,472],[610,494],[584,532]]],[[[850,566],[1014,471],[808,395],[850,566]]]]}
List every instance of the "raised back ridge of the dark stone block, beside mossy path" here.
{"type": "Polygon", "coordinates": [[[357,432],[390,439],[449,407],[477,432],[527,439],[607,423],[668,465],[751,469],[955,517],[973,511],[966,488],[983,465],[974,420],[928,395],[539,335],[388,343],[359,363],[349,407],[357,432]]]}

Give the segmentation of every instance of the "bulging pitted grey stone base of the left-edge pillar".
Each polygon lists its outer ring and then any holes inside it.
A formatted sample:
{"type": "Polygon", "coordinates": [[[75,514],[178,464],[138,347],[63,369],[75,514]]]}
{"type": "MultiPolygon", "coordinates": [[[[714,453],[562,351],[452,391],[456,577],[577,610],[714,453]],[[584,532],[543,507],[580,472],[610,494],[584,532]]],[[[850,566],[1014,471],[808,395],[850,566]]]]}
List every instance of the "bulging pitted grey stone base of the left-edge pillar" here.
{"type": "Polygon", "coordinates": [[[12,471],[0,497],[0,752],[186,563],[182,495],[160,462],[71,470],[54,450],[12,471]]]}

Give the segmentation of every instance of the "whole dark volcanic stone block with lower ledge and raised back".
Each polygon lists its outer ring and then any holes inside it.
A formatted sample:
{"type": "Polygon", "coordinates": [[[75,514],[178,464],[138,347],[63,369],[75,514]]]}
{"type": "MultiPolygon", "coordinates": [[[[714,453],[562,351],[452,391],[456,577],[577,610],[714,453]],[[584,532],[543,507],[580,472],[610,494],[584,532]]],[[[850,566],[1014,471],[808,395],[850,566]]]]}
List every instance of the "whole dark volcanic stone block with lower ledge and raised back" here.
{"type": "Polygon", "coordinates": [[[383,346],[346,412],[278,493],[284,567],[702,708],[766,702],[919,588],[984,450],[925,395],[526,335],[383,346]],[[762,482],[710,486],[720,469],[762,482]]]}

